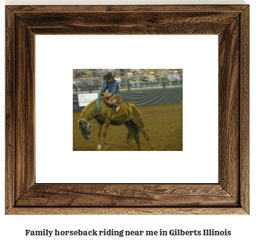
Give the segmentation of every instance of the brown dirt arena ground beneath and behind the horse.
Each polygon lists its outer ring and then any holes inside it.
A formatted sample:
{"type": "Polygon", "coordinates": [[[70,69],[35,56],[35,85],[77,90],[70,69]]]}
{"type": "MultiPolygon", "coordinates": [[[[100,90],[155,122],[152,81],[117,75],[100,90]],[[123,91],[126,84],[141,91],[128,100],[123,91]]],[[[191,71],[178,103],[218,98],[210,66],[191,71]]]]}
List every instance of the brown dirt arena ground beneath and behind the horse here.
{"type": "MultiPolygon", "coordinates": [[[[138,109],[143,115],[149,138],[157,150],[183,150],[182,103],[144,106],[138,109]]],[[[97,150],[98,124],[95,119],[92,119],[92,138],[84,139],[76,124],[80,114],[81,112],[73,112],[73,151],[97,150]]],[[[138,150],[134,139],[127,144],[127,134],[128,129],[125,125],[110,125],[107,134],[109,150],[138,150]]],[[[151,150],[142,133],[140,133],[140,145],[142,150],[151,150]]]]}

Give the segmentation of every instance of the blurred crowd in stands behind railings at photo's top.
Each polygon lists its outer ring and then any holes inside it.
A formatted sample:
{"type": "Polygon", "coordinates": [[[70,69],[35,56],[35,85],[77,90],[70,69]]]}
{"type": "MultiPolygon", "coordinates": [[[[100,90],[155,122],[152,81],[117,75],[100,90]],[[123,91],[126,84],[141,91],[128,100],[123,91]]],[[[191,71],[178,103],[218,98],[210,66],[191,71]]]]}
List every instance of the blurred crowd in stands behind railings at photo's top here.
{"type": "Polygon", "coordinates": [[[182,85],[183,69],[73,69],[73,90],[102,89],[112,72],[120,88],[182,85]]]}

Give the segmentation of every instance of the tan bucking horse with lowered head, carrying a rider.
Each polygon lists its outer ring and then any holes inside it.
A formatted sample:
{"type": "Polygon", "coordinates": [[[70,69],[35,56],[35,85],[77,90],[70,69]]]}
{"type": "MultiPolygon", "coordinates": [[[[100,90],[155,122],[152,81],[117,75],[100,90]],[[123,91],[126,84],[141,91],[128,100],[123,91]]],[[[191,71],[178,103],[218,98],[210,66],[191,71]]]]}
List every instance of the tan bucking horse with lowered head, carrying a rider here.
{"type": "Polygon", "coordinates": [[[144,128],[142,114],[134,106],[126,102],[118,104],[120,109],[118,112],[111,110],[111,107],[103,98],[93,100],[82,110],[80,119],[78,120],[78,128],[81,131],[84,139],[91,138],[91,120],[94,118],[98,123],[98,150],[108,150],[107,132],[109,125],[125,124],[128,128],[127,142],[131,137],[137,143],[138,150],[142,150],[139,143],[139,131],[144,135],[152,150],[155,150],[154,145],[150,142],[149,136],[144,128]],[[103,127],[104,124],[104,127],[103,127]],[[101,133],[103,130],[104,144],[101,145],[101,133]]]}

